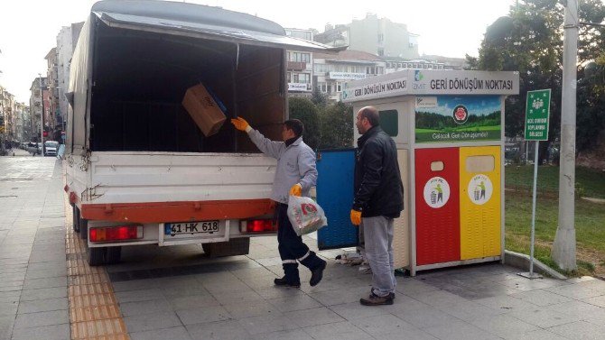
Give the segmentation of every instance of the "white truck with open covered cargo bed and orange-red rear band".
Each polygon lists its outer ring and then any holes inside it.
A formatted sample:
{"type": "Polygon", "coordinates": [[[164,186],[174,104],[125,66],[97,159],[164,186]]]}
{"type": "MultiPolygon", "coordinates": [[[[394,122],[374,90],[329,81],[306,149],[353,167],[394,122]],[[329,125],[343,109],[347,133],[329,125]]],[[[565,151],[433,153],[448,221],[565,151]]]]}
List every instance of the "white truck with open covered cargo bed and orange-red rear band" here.
{"type": "Polygon", "coordinates": [[[245,254],[250,236],[275,233],[275,160],[228,123],[205,137],[181,100],[203,83],[228,118],[279,139],[286,49],[330,51],[217,7],[93,5],[71,61],[65,148],[65,191],[90,265],[116,262],[122,246],[137,244],[245,254]]]}

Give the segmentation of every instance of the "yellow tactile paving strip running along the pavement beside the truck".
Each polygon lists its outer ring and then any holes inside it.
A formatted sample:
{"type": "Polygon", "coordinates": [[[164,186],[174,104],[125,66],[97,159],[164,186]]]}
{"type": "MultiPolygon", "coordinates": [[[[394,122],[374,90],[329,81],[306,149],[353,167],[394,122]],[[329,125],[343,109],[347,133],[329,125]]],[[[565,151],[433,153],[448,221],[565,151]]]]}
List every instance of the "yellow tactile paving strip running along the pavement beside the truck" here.
{"type": "Polygon", "coordinates": [[[86,246],[73,232],[67,198],[65,207],[71,339],[129,340],[107,271],[88,266],[86,246]]]}

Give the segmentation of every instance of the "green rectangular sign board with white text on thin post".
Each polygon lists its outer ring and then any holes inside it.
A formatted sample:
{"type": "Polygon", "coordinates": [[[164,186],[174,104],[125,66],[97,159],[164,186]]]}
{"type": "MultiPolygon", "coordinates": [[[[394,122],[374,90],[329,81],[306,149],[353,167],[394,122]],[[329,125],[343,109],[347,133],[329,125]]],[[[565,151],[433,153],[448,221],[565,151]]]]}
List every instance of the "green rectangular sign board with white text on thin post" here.
{"type": "Polygon", "coordinates": [[[526,141],[548,141],[551,89],[527,91],[526,141]]]}

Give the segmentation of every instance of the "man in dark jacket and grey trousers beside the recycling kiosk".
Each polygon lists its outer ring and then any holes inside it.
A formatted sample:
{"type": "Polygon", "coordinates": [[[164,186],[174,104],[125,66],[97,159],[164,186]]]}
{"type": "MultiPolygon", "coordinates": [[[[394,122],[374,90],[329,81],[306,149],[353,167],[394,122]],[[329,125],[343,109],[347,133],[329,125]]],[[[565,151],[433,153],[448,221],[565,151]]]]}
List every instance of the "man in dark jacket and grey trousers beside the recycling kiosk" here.
{"type": "Polygon", "coordinates": [[[366,257],[372,269],[370,295],[359,302],[366,306],[392,305],[396,286],[393,219],[404,209],[396,145],[380,128],[376,107],[361,108],[355,125],[362,136],[358,139],[350,219],[363,228],[366,257]]]}

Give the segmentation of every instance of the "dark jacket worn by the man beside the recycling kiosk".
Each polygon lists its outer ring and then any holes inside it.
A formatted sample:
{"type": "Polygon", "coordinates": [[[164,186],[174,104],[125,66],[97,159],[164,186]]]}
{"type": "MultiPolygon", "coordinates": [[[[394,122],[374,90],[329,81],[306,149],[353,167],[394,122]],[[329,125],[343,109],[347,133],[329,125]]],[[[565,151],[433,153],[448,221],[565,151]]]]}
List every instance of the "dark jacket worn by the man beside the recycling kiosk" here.
{"type": "Polygon", "coordinates": [[[397,150],[393,139],[374,126],[358,139],[353,208],[361,216],[399,217],[404,209],[397,150]]]}

